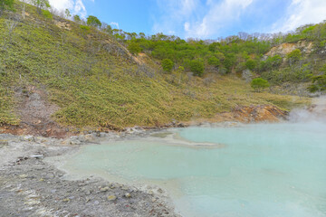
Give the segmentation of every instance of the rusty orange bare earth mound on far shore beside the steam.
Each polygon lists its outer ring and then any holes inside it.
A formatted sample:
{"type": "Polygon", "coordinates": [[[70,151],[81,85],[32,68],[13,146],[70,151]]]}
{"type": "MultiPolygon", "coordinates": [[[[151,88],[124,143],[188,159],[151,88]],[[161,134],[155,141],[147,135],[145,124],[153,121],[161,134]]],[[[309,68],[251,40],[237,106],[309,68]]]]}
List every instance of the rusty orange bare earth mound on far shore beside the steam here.
{"type": "Polygon", "coordinates": [[[285,119],[288,112],[275,106],[252,106],[236,108],[231,112],[225,112],[216,116],[217,121],[250,122],[278,122],[285,119]]]}

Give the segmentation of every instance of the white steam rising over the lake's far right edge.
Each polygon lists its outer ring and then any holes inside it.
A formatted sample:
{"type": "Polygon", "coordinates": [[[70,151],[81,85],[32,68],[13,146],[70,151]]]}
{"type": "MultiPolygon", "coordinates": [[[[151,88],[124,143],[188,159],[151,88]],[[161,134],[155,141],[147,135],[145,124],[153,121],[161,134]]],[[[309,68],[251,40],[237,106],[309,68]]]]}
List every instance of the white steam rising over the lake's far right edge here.
{"type": "Polygon", "coordinates": [[[290,113],[291,122],[319,122],[326,124],[326,97],[313,99],[312,107],[309,109],[293,109],[290,113]]]}

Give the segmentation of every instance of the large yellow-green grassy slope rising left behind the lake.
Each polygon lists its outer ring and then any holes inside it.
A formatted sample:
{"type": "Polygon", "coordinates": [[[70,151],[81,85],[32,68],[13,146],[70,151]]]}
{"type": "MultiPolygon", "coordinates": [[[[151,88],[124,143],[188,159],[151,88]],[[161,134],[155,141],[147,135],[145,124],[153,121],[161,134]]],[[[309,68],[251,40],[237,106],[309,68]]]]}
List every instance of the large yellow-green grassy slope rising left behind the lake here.
{"type": "Polygon", "coordinates": [[[165,74],[135,59],[109,34],[26,5],[26,16],[0,17],[0,124],[18,124],[15,93],[43,90],[59,106],[62,126],[156,126],[172,119],[212,118],[239,106],[273,104],[292,109],[309,99],[256,93],[234,74],[165,74]]]}

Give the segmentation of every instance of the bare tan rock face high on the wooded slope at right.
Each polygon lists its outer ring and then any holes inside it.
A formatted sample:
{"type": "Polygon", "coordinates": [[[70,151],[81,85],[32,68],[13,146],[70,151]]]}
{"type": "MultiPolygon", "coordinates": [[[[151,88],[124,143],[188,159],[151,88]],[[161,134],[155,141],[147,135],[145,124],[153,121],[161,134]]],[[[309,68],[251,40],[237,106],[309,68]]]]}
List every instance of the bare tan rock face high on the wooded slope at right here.
{"type": "Polygon", "coordinates": [[[282,43],[278,46],[273,47],[271,51],[267,52],[264,55],[264,58],[267,58],[268,56],[274,56],[276,54],[280,56],[285,56],[286,54],[294,51],[295,49],[299,49],[305,53],[311,53],[313,51],[312,47],[313,47],[312,42],[305,42],[305,41],[299,41],[296,43],[282,43]]]}

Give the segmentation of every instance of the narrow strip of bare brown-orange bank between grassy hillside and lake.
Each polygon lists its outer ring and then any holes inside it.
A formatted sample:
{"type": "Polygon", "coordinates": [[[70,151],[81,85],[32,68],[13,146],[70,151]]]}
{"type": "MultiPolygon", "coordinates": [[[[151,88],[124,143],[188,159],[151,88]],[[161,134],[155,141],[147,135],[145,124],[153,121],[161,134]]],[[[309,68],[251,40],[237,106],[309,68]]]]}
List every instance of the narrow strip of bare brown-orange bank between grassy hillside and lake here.
{"type": "Polygon", "coordinates": [[[162,130],[174,127],[191,127],[201,126],[205,124],[224,123],[224,122],[240,122],[240,123],[258,123],[258,122],[279,122],[286,120],[289,117],[289,112],[279,109],[271,105],[261,106],[250,106],[250,107],[237,107],[228,112],[217,113],[212,118],[196,118],[188,121],[172,120],[169,123],[158,124],[157,126],[134,126],[124,128],[97,128],[85,127],[61,127],[58,123],[51,121],[51,125],[44,126],[44,124],[28,125],[21,123],[19,126],[0,126],[0,134],[13,134],[16,136],[21,135],[33,135],[34,137],[56,137],[56,138],[67,138],[75,137],[79,135],[86,135],[96,133],[101,135],[103,133],[134,133],[139,130],[162,130]]]}

